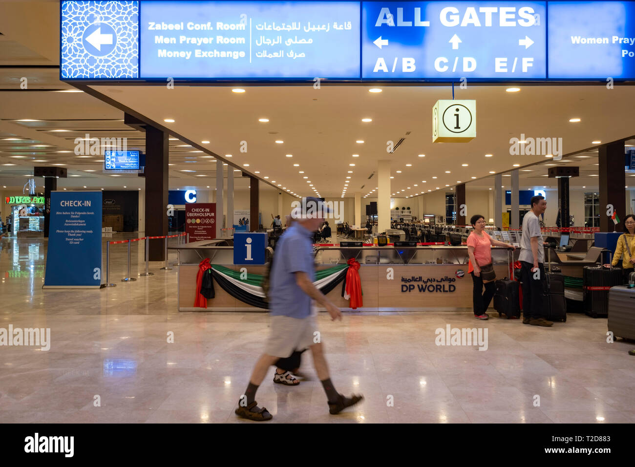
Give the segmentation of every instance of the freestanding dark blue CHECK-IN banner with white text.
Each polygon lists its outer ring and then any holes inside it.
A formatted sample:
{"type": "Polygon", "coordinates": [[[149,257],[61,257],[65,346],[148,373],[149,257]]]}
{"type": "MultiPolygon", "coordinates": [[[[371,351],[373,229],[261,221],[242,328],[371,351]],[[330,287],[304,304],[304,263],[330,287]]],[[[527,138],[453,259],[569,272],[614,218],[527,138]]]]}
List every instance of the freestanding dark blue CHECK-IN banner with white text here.
{"type": "Polygon", "coordinates": [[[99,288],[102,192],[53,191],[44,288],[99,288]]]}

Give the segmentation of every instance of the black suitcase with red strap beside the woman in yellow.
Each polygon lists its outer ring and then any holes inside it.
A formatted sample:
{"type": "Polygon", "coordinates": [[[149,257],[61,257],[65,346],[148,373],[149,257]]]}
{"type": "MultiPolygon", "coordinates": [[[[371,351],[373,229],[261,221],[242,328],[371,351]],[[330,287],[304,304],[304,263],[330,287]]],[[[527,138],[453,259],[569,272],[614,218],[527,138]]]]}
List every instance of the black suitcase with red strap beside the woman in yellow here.
{"type": "Polygon", "coordinates": [[[592,318],[608,316],[608,291],[622,285],[622,269],[619,267],[591,267],[582,269],[584,313],[592,318]]]}

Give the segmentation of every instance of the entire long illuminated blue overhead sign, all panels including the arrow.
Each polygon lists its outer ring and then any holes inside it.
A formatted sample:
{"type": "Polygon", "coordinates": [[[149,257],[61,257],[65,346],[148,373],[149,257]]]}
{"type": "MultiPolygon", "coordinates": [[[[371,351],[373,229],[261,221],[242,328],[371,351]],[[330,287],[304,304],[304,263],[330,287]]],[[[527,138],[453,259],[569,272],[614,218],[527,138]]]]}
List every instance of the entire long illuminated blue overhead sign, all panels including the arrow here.
{"type": "Polygon", "coordinates": [[[635,79],[635,1],[74,1],[66,81],[635,79]]]}

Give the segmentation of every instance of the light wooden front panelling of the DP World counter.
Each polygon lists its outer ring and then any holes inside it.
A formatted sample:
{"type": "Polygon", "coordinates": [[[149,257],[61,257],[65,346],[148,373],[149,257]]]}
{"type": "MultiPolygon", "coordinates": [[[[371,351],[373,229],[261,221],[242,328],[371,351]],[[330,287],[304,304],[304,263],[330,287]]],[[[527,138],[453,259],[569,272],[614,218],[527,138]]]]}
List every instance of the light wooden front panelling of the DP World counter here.
{"type": "MultiPolygon", "coordinates": [[[[244,266],[225,267],[239,271],[244,266]]],[[[318,269],[327,267],[330,266],[325,265],[318,269]]],[[[197,264],[179,266],[179,311],[267,311],[235,299],[227,294],[216,281],[214,283],[215,298],[208,300],[208,308],[194,308],[198,269],[197,264]]],[[[509,276],[506,264],[495,264],[494,269],[497,278],[509,276]]],[[[264,274],[265,268],[250,266],[247,271],[250,274],[264,274]]],[[[349,308],[349,301],[342,297],[341,284],[331,290],[327,296],[338,307],[347,311],[465,311],[472,309],[472,276],[467,274],[467,264],[362,264],[359,267],[359,278],[363,291],[362,308],[357,310],[349,308]],[[460,273],[457,276],[458,271],[463,271],[463,277],[458,277],[460,273]],[[389,279],[391,275],[392,279],[389,279]],[[413,277],[417,280],[412,281],[413,277]],[[408,282],[408,279],[411,281],[408,282]]]]}

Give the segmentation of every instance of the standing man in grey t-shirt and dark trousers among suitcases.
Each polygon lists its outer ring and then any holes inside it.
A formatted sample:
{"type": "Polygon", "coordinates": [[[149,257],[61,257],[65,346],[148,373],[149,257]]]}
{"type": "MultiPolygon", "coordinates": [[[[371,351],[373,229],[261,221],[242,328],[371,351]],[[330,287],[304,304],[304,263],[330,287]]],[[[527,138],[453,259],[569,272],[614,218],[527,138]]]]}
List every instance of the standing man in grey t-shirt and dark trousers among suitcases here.
{"type": "Polygon", "coordinates": [[[523,236],[520,243],[521,281],[523,283],[523,324],[552,326],[544,318],[545,250],[543,248],[540,219],[547,209],[544,196],[531,198],[531,211],[523,217],[523,236]]]}

